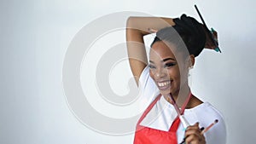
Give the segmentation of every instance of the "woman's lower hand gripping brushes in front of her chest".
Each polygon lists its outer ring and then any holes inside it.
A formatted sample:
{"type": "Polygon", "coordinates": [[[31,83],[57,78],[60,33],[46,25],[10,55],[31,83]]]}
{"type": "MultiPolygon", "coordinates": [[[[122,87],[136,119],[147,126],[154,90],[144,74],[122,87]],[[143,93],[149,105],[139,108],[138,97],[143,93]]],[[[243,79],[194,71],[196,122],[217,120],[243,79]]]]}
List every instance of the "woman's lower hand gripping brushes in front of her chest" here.
{"type": "Polygon", "coordinates": [[[199,123],[187,128],[185,138],[187,144],[206,144],[205,136],[201,134],[199,123]]]}

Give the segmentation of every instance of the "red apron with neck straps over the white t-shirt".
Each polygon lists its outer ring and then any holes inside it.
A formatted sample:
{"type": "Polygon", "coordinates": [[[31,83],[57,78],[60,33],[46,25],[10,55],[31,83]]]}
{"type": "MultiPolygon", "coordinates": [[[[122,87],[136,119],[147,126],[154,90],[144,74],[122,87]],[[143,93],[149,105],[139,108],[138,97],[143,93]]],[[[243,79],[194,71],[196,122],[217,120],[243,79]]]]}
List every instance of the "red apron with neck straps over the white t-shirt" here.
{"type": "MultiPolygon", "coordinates": [[[[176,118],[174,122],[172,123],[172,126],[169,131],[163,131],[163,130],[156,130],[153,128],[148,128],[145,126],[140,125],[140,123],[143,121],[143,118],[146,117],[148,112],[154,107],[155,103],[160,100],[161,95],[158,95],[155,100],[148,106],[145,112],[143,112],[143,116],[139,119],[137,122],[135,137],[134,137],[134,144],[177,144],[177,128],[180,123],[180,119],[176,118]]],[[[182,112],[186,105],[189,102],[189,99],[191,97],[191,94],[189,95],[187,101],[185,101],[182,112]]]]}

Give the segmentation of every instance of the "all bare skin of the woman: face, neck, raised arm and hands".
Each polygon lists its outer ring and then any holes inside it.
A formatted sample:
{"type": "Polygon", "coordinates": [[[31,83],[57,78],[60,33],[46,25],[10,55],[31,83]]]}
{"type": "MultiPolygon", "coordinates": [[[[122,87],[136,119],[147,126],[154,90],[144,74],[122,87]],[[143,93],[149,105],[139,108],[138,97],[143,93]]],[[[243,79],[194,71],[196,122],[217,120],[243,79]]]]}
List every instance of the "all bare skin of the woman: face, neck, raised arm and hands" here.
{"type": "MultiPolygon", "coordinates": [[[[143,36],[148,35],[148,28],[154,30],[154,32],[159,31],[160,29],[166,26],[174,26],[175,23],[171,18],[157,18],[157,17],[131,17],[127,20],[127,28],[126,28],[126,41],[127,41],[127,49],[129,55],[129,61],[131,66],[131,71],[133,76],[138,84],[138,79],[140,78],[141,73],[145,66],[148,65],[148,58],[146,55],[146,50],[143,42],[143,36]]],[[[216,46],[212,43],[210,37],[207,36],[207,42],[205,48],[207,49],[215,49],[216,46]]],[[[217,32],[215,32],[215,37],[217,38],[217,32]]],[[[171,54],[168,50],[168,46],[165,46],[164,43],[154,43],[151,50],[150,64],[153,65],[153,69],[150,70],[150,75],[154,78],[156,84],[159,82],[159,86],[162,95],[167,98],[168,93],[172,93],[175,100],[177,100],[177,95],[189,95],[190,89],[188,85],[188,81],[180,79],[187,79],[189,66],[194,65],[195,56],[189,55],[189,62],[184,62],[185,65],[177,66],[173,65],[173,63],[177,63],[174,55],[171,54]],[[161,51],[160,47],[166,47],[167,51],[161,51]],[[166,58],[172,58],[172,60],[165,60],[166,58]],[[173,59],[174,58],[174,59],[173,59]],[[166,65],[166,63],[168,63],[166,65]],[[171,63],[171,64],[170,64],[171,63]],[[179,68],[181,71],[179,70],[179,68]],[[171,83],[170,83],[171,82],[171,83]],[[169,89],[165,89],[168,84],[172,84],[172,87],[169,89]],[[180,92],[180,94],[179,94],[180,92]]],[[[177,54],[175,54],[176,56],[177,54]]],[[[167,100],[167,99],[166,99],[167,100]]],[[[186,108],[193,108],[202,103],[197,97],[193,96],[189,100],[189,104],[186,108]]],[[[204,135],[201,135],[201,130],[199,128],[199,124],[194,124],[188,127],[185,132],[186,143],[189,144],[206,144],[204,135]]]]}

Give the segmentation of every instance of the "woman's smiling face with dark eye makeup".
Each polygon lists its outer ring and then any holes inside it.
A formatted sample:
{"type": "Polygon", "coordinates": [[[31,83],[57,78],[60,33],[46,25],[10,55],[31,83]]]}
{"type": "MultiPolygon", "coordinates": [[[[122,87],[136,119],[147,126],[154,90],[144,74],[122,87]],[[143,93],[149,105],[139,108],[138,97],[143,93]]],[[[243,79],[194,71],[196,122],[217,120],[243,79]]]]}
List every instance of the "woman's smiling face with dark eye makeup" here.
{"type": "Polygon", "coordinates": [[[183,84],[188,84],[188,66],[183,65],[184,62],[182,61],[184,60],[182,54],[175,52],[174,49],[174,45],[168,47],[162,41],[154,43],[150,49],[150,77],[154,79],[162,95],[170,93],[177,95],[180,87],[183,87],[183,84]],[[174,51],[175,55],[172,51],[174,51]],[[177,64],[177,60],[179,61],[179,65],[177,64]],[[181,81],[181,78],[184,79],[181,81]]]}

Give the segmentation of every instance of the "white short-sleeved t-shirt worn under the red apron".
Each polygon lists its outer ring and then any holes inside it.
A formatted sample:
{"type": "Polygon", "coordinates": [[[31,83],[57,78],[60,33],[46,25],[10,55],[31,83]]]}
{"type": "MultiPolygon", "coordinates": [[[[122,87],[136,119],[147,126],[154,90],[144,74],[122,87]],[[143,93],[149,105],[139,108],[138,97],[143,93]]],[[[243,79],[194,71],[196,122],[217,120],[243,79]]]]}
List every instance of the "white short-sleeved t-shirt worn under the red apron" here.
{"type": "MultiPolygon", "coordinates": [[[[160,94],[159,89],[154,80],[149,76],[149,67],[146,66],[139,78],[139,88],[141,90],[141,98],[143,104],[149,105],[154,98],[160,94]]],[[[204,102],[197,107],[185,109],[184,117],[188,120],[189,124],[195,124],[199,122],[200,127],[207,128],[212,124],[215,119],[218,119],[218,123],[215,124],[204,135],[206,137],[207,144],[225,144],[226,143],[226,127],[224,119],[217,109],[212,107],[208,102],[204,102]]],[[[173,120],[177,117],[172,104],[166,101],[163,96],[148,112],[147,116],[141,122],[141,125],[157,129],[168,131],[172,125],[173,120]]],[[[177,130],[177,141],[180,143],[183,141],[183,125],[179,124],[177,130]]]]}

